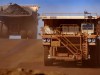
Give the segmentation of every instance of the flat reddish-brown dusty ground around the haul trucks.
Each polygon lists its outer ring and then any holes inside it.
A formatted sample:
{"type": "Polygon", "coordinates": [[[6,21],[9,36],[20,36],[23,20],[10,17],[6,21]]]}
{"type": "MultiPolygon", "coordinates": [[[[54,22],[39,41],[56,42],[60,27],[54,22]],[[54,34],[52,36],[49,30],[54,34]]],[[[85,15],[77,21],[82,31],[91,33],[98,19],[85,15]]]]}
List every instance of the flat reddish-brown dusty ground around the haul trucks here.
{"type": "Polygon", "coordinates": [[[68,65],[44,66],[41,40],[0,40],[0,73],[2,70],[20,68],[32,70],[34,73],[45,73],[46,75],[100,74],[100,68],[76,68],[68,65]]]}

